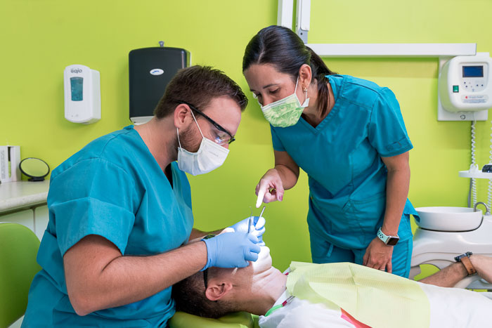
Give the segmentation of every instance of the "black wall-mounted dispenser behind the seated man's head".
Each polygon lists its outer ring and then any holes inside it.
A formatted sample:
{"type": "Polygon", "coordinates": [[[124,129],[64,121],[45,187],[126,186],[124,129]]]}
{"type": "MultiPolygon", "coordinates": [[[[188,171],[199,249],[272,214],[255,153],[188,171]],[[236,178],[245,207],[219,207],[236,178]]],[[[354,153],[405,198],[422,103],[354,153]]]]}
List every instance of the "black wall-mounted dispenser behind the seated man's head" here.
{"type": "Polygon", "coordinates": [[[166,86],[181,68],[190,66],[190,53],[182,48],[141,48],[130,51],[130,119],[134,124],[148,122],[164,95],[166,86]]]}

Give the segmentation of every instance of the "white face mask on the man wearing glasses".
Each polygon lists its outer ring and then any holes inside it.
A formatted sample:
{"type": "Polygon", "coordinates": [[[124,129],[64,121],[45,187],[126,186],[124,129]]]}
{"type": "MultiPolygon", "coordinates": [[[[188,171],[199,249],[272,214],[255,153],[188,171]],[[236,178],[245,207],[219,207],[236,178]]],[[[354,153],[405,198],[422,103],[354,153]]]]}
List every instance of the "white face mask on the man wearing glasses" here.
{"type": "Polygon", "coordinates": [[[197,152],[188,152],[188,150],[181,147],[181,142],[179,141],[179,130],[176,128],[179,143],[178,167],[181,171],[190,173],[193,176],[198,176],[198,174],[209,173],[224,164],[229,150],[217,143],[214,143],[212,140],[205,138],[197,120],[195,119],[195,115],[193,112],[191,112],[191,114],[193,115],[193,119],[198,126],[200,134],[202,135],[202,143],[200,143],[200,148],[198,148],[197,152]]]}

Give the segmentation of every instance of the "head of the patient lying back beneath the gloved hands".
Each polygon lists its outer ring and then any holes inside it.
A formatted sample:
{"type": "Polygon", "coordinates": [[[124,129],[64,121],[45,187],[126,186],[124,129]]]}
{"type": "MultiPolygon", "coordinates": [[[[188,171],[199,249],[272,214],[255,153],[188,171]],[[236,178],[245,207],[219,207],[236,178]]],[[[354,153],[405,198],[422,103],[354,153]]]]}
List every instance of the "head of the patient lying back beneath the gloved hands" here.
{"type": "Polygon", "coordinates": [[[285,276],[271,266],[270,249],[261,247],[258,260],[246,268],[195,273],[175,284],[172,296],[176,310],[216,318],[242,310],[263,315],[283,290],[285,276]]]}

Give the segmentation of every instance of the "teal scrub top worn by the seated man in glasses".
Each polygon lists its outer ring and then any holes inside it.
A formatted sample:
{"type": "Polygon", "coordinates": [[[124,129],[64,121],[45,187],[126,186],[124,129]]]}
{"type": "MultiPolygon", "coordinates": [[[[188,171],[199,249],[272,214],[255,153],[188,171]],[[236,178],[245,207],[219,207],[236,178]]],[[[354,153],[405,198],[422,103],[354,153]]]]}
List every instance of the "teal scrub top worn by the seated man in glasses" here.
{"type": "MultiPolygon", "coordinates": [[[[80,317],[67,296],[63,255],[86,235],[101,235],[123,255],[148,256],[188,242],[190,185],[171,163],[172,186],[133,126],[93,140],[51,174],[49,223],[22,327],[166,327],[171,287],[126,306],[80,317]]],[[[166,268],[162,268],[164,272],[166,268]]]]}

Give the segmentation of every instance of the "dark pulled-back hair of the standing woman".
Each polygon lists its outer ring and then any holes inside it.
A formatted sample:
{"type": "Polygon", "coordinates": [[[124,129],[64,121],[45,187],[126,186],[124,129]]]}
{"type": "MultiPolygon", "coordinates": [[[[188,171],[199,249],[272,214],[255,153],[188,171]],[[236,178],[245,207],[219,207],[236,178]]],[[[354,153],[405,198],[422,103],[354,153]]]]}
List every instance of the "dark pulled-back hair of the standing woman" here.
{"type": "Polygon", "coordinates": [[[271,64],[278,72],[289,74],[295,82],[299,68],[307,64],[318,85],[318,110],[322,115],[328,110],[328,79],[332,72],[320,56],[304,44],[301,38],[287,27],[271,25],[261,29],[247,44],[242,58],[242,72],[253,64],[271,64]]]}

